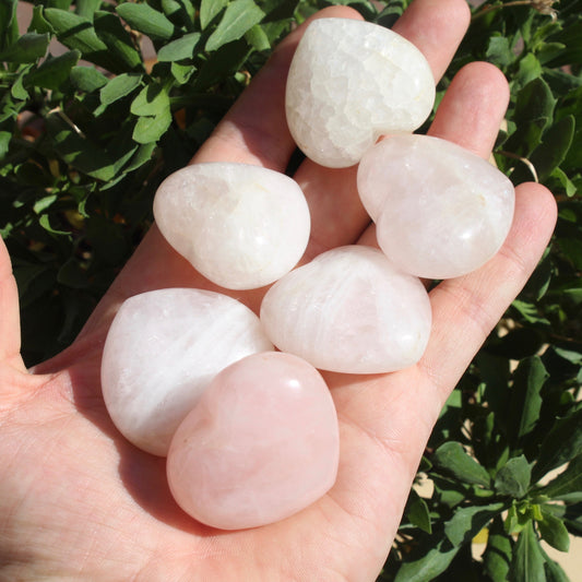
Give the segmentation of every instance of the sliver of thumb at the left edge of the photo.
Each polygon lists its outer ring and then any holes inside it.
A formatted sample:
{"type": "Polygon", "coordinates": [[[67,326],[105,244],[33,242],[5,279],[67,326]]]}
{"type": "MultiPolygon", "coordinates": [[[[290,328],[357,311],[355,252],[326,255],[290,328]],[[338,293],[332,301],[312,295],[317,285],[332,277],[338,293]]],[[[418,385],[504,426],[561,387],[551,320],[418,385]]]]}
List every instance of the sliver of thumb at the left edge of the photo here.
{"type": "Polygon", "coordinates": [[[19,289],[3,240],[0,240],[0,364],[24,370],[21,349],[19,289]]]}

